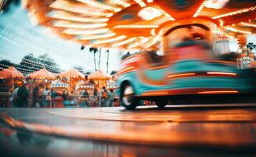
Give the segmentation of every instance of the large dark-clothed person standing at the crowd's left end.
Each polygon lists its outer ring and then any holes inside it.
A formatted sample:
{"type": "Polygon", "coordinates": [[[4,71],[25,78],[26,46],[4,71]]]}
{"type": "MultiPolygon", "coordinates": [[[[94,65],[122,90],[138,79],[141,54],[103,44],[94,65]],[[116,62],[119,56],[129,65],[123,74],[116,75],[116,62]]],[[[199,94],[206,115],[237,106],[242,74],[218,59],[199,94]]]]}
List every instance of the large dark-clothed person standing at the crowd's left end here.
{"type": "Polygon", "coordinates": [[[27,98],[29,96],[26,83],[23,83],[22,86],[17,91],[17,96],[19,97],[19,107],[27,108],[27,98]]]}

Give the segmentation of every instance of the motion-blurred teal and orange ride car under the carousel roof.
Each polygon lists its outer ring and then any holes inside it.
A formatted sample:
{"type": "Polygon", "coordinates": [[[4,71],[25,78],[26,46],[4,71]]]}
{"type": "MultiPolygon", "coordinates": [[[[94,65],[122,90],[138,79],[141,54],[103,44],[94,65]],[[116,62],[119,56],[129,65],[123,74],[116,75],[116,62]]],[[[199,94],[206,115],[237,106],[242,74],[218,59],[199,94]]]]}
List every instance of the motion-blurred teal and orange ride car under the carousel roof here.
{"type": "Polygon", "coordinates": [[[214,102],[235,95],[253,96],[255,83],[250,78],[254,72],[239,70],[234,62],[214,57],[208,23],[187,20],[177,24],[163,31],[163,56],[144,51],[122,60],[117,92],[126,109],[136,108],[139,100],[154,100],[163,108],[168,100],[214,102]]]}

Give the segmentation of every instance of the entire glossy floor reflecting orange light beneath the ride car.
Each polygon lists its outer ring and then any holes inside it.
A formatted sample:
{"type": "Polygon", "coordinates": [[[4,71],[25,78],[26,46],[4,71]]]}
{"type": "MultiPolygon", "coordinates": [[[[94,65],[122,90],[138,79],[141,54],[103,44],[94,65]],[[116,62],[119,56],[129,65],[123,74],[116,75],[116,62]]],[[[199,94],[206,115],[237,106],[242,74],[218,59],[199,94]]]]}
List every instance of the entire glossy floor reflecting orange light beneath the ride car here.
{"type": "Polygon", "coordinates": [[[256,156],[256,104],[0,108],[0,120],[5,156],[256,156]]]}

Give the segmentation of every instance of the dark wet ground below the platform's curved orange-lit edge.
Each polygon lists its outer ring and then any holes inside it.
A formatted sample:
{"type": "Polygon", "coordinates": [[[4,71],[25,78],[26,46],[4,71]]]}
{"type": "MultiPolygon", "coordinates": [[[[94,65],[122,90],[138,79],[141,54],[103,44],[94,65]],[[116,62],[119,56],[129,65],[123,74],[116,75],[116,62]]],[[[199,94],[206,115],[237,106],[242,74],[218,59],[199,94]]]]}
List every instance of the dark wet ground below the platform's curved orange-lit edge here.
{"type": "MultiPolygon", "coordinates": [[[[163,135],[164,138],[164,135],[163,135]]],[[[46,136],[24,130],[12,130],[0,123],[1,154],[4,156],[253,156],[253,148],[225,150],[221,148],[170,148],[144,145],[118,144],[103,141],[75,140],[64,137],[46,136]]]]}

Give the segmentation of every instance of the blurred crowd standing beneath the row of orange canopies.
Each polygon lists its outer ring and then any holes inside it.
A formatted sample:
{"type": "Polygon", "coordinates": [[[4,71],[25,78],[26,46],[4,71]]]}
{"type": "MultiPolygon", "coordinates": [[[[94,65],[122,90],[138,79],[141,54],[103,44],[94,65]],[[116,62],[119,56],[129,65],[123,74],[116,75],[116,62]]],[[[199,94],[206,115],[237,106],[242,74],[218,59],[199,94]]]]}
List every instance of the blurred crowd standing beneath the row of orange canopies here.
{"type": "Polygon", "coordinates": [[[101,91],[94,89],[91,94],[86,89],[76,93],[64,89],[60,93],[42,86],[30,89],[27,83],[22,82],[14,86],[9,104],[14,108],[112,107],[116,106],[114,99],[114,90],[105,87],[101,91]]]}

